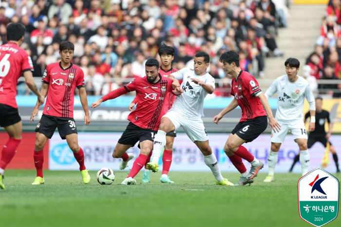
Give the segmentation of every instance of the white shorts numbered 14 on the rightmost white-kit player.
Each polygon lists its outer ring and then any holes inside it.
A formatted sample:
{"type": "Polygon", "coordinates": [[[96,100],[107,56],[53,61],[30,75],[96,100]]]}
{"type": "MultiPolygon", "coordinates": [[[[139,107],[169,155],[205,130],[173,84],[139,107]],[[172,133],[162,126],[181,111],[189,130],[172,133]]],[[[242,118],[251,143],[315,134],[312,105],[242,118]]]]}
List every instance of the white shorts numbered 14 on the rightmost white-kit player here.
{"type": "Polygon", "coordinates": [[[294,135],[294,139],[308,139],[303,121],[295,121],[290,124],[278,123],[281,125],[281,131],[271,133],[271,143],[283,143],[289,130],[294,135]]]}

